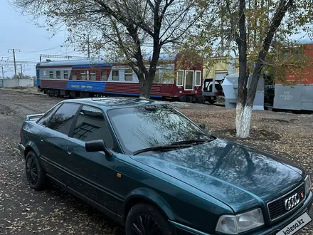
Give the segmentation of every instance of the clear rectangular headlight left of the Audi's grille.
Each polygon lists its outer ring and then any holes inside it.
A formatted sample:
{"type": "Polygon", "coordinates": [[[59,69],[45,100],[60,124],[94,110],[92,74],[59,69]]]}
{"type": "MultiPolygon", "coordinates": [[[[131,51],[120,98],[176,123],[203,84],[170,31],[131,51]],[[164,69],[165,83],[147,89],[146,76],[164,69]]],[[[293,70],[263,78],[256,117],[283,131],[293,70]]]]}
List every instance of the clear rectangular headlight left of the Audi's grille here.
{"type": "Polygon", "coordinates": [[[218,219],[216,231],[223,234],[240,234],[264,224],[260,208],[237,215],[223,215],[218,219]]]}

